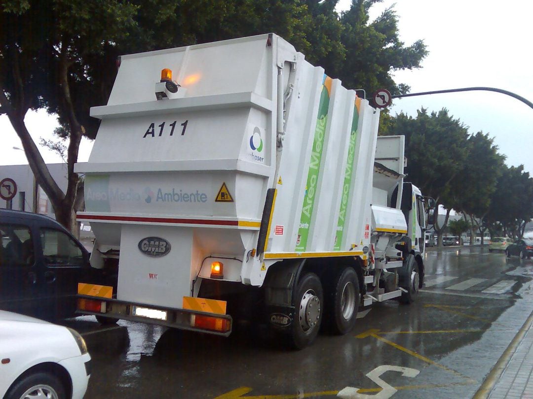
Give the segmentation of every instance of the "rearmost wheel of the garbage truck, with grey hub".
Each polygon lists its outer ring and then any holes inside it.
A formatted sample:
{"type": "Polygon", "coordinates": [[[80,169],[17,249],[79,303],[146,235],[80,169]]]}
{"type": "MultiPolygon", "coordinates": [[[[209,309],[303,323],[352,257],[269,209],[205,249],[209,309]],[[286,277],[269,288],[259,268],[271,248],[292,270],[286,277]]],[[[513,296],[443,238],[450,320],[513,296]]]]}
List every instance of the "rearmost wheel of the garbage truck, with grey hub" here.
{"type": "Polygon", "coordinates": [[[322,321],[324,294],[320,279],[314,273],[306,273],[296,287],[295,315],[290,331],[290,345],[303,349],[317,337],[322,321]]]}

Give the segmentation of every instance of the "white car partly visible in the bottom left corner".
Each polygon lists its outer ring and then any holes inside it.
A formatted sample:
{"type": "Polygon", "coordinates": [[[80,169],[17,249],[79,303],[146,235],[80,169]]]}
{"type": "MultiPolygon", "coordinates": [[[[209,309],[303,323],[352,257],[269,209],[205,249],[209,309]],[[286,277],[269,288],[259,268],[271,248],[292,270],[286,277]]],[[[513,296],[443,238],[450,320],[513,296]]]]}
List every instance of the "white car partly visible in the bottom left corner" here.
{"type": "Polygon", "coordinates": [[[90,365],[78,332],[0,310],[0,398],[81,399],[90,365]]]}

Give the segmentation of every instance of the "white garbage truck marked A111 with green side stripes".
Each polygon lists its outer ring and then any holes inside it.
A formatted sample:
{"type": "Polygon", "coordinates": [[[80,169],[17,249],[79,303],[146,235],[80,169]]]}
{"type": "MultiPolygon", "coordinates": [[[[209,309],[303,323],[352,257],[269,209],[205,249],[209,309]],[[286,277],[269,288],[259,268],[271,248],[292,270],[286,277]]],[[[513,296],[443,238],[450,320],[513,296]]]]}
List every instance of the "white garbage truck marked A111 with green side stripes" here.
{"type": "Polygon", "coordinates": [[[85,175],[94,268],[78,310],[229,335],[263,319],[296,348],[360,306],[415,300],[424,198],[403,136],[274,34],[126,55],[85,175]]]}

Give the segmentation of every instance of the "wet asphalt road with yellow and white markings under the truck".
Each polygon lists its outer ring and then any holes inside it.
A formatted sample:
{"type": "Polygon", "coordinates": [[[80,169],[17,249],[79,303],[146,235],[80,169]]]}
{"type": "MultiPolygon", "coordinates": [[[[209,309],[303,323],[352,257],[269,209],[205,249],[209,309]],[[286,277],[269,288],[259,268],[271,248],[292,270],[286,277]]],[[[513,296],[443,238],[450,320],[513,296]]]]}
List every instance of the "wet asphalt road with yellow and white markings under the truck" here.
{"type": "Polygon", "coordinates": [[[125,321],[93,333],[78,318],[93,358],[86,398],[472,397],[533,310],[533,261],[447,247],[425,265],[417,302],[360,309],[350,334],[298,352],[250,326],[229,338],[125,321]]]}

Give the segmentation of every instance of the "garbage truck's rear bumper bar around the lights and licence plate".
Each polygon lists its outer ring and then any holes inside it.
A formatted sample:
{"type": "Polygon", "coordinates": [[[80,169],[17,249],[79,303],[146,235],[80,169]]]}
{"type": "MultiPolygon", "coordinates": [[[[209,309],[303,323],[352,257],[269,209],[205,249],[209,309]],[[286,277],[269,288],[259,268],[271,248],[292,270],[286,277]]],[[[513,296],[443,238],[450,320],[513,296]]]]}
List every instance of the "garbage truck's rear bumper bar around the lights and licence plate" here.
{"type": "Polygon", "coordinates": [[[172,307],[154,306],[146,303],[126,302],[111,298],[103,298],[90,295],[78,295],[78,299],[100,301],[105,303],[105,306],[103,306],[105,312],[91,312],[87,310],[78,309],[76,311],[76,313],[78,314],[93,314],[95,316],[137,321],[141,323],[149,323],[159,326],[178,328],[181,330],[207,332],[208,334],[221,335],[224,337],[227,337],[231,334],[231,329],[233,326],[233,320],[229,314],[208,313],[188,309],[174,309],[172,307]],[[165,312],[166,319],[160,320],[134,314],[134,309],[136,307],[143,307],[150,310],[165,312]],[[194,324],[191,322],[193,316],[204,316],[208,318],[225,320],[227,323],[227,328],[224,331],[216,331],[212,329],[195,327],[194,324]]]}

